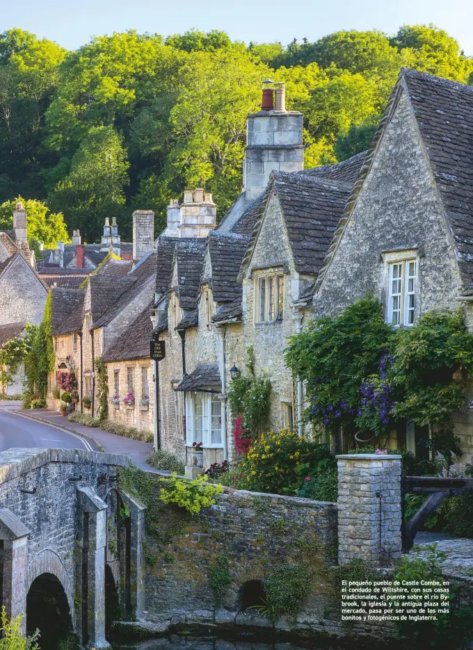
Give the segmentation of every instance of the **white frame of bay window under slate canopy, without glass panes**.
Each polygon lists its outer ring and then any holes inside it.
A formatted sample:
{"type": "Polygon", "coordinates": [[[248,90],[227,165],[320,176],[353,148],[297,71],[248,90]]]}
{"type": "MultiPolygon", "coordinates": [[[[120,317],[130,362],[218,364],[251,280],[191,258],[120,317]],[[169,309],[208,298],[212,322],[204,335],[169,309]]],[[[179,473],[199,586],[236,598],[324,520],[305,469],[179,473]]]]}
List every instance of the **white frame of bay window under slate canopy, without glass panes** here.
{"type": "Polygon", "coordinates": [[[218,398],[217,393],[213,391],[186,391],[185,393],[184,407],[186,410],[186,447],[192,447],[193,442],[202,442],[202,446],[205,449],[223,449],[223,439],[222,439],[222,402],[218,398]],[[196,400],[201,400],[202,402],[202,436],[196,436],[195,434],[195,406],[196,400]],[[218,405],[219,413],[212,413],[212,405],[214,407],[218,405]],[[218,418],[217,427],[214,429],[211,428],[212,419],[218,418]],[[220,434],[220,441],[218,443],[213,443],[211,441],[212,431],[218,431],[220,434]],[[201,438],[201,439],[198,439],[201,438]]]}

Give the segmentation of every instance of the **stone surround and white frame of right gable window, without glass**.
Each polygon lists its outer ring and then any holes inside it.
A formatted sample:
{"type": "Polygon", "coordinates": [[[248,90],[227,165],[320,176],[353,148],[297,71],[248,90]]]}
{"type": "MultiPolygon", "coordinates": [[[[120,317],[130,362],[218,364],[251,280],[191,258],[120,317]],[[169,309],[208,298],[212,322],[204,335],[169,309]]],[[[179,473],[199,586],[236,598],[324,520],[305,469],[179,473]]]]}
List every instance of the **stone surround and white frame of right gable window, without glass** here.
{"type": "MultiPolygon", "coordinates": [[[[385,286],[385,320],[386,323],[390,323],[393,327],[413,327],[417,318],[419,311],[419,250],[417,248],[411,248],[406,250],[396,250],[396,251],[387,251],[381,254],[381,259],[384,266],[384,286],[385,286]],[[406,268],[410,264],[415,265],[415,274],[406,275],[406,268]],[[401,277],[399,282],[401,285],[401,291],[399,294],[392,293],[393,281],[396,281],[396,278],[393,278],[394,267],[401,265],[401,277]],[[409,289],[409,280],[413,279],[414,291],[408,291],[409,289]],[[407,291],[406,291],[407,288],[407,291]],[[399,323],[393,323],[393,309],[391,299],[399,295],[399,323]],[[413,305],[412,307],[408,304],[408,297],[413,296],[413,305]],[[412,321],[408,318],[409,312],[412,313],[412,321]]],[[[395,310],[398,311],[398,310],[395,310]]]]}

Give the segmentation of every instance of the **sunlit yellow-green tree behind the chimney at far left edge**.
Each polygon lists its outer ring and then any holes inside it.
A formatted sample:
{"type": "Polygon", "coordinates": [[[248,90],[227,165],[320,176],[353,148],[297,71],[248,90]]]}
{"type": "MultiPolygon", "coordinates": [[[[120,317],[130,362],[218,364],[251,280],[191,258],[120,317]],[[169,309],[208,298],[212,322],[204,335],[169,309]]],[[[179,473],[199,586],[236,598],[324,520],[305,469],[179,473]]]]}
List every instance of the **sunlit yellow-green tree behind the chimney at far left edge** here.
{"type": "Polygon", "coordinates": [[[0,229],[13,228],[13,211],[17,202],[22,202],[26,209],[26,227],[30,240],[40,241],[46,248],[56,248],[58,241],[69,241],[61,212],[51,212],[44,203],[34,199],[25,201],[21,196],[0,205],[0,229]]]}

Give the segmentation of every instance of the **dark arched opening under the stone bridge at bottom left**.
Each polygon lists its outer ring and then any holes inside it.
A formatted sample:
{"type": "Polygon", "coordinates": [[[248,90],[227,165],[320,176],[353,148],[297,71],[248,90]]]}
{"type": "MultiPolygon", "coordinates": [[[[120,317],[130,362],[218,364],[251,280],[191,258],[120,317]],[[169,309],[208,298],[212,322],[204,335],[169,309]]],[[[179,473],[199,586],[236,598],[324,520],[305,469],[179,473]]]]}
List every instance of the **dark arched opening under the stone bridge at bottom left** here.
{"type": "Polygon", "coordinates": [[[72,635],[72,619],[64,587],[53,574],[33,580],[26,596],[26,632],[40,631],[40,647],[54,650],[72,635]]]}

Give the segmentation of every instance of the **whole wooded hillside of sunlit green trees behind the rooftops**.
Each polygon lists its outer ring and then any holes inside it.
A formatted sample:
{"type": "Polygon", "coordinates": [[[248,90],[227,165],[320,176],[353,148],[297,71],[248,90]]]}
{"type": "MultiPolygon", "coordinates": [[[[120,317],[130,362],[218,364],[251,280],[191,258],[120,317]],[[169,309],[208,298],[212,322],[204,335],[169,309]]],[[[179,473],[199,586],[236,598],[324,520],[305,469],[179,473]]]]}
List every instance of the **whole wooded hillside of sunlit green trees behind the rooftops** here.
{"type": "Polygon", "coordinates": [[[138,208],[155,211],[159,231],[188,185],[205,185],[222,215],[241,188],[246,115],[263,79],[286,81],[288,107],[305,114],[310,167],[367,147],[402,65],[462,82],[473,70],[433,26],[287,47],[216,30],[166,40],[129,31],[72,52],[11,29],[0,35],[0,202],[45,202],[88,241],[110,215],[129,237],[138,208]]]}

